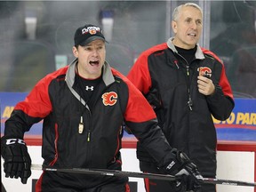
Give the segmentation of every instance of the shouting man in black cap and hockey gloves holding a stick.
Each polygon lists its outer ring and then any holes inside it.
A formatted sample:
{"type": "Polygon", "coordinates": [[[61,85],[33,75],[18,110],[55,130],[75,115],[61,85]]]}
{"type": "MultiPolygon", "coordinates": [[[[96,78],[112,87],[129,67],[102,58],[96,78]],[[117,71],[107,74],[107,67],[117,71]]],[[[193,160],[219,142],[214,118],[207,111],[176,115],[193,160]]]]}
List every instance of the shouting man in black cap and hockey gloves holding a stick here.
{"type": "MultiPolygon", "coordinates": [[[[27,183],[31,159],[23,136],[41,120],[44,165],[121,170],[125,122],[163,173],[182,173],[197,188],[202,176],[196,165],[169,146],[148,101],[105,61],[101,29],[94,25],[77,28],[74,40],[76,60],[40,80],[6,121],[1,139],[5,177],[20,177],[27,183]]],[[[44,172],[36,192],[124,192],[129,191],[127,181],[125,177],[44,172]]]]}

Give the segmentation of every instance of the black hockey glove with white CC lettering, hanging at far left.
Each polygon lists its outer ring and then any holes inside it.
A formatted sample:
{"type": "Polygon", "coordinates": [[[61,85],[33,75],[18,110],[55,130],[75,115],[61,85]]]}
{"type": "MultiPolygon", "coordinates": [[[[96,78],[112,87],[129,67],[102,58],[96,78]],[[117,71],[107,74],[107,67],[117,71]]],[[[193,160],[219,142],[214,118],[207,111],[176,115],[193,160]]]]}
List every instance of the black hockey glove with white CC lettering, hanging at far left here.
{"type": "Polygon", "coordinates": [[[5,177],[18,179],[20,177],[23,184],[27,183],[31,175],[31,158],[24,140],[1,139],[1,150],[4,158],[5,177]]]}

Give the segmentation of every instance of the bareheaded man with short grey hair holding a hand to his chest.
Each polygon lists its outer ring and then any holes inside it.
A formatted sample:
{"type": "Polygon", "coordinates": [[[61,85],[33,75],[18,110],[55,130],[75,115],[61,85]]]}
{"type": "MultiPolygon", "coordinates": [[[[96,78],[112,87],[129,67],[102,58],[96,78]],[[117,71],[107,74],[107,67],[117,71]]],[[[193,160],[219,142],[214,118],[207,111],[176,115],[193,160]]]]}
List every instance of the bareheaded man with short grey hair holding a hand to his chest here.
{"type": "MultiPolygon", "coordinates": [[[[217,136],[212,116],[226,120],[235,103],[222,62],[198,44],[202,28],[203,12],[197,4],[175,8],[174,36],[142,52],[128,78],[154,108],[171,147],[184,151],[204,177],[215,178],[217,136]]],[[[159,173],[140,141],[137,156],[141,171],[159,173]]],[[[146,179],[145,187],[147,192],[171,192],[176,183],[146,179]]],[[[182,191],[191,189],[187,185],[182,191]]],[[[200,191],[213,192],[215,186],[202,185],[200,191]]]]}

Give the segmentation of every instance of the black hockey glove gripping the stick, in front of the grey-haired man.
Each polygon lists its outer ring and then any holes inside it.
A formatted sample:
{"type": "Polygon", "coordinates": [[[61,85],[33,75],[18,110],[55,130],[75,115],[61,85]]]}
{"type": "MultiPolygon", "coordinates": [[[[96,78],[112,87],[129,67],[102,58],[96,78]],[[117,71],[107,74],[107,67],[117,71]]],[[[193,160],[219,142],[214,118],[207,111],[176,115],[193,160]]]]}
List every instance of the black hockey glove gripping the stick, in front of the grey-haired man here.
{"type": "Polygon", "coordinates": [[[200,188],[200,184],[203,182],[203,176],[198,172],[196,164],[191,163],[185,153],[175,148],[172,148],[172,155],[176,158],[171,164],[167,165],[166,171],[176,176],[176,191],[196,191],[200,188]]]}

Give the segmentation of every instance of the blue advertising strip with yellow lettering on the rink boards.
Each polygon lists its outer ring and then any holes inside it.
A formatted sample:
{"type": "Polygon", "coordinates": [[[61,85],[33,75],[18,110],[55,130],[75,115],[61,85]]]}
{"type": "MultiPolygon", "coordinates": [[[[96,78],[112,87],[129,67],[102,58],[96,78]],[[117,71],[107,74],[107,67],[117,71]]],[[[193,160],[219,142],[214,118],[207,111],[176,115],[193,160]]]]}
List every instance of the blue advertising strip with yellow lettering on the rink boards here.
{"type": "MultiPolygon", "coordinates": [[[[4,122],[11,116],[15,105],[24,100],[27,92],[0,92],[1,135],[4,133],[4,122]]],[[[226,121],[213,122],[218,140],[256,141],[256,99],[235,99],[235,108],[226,121]]],[[[34,124],[26,138],[40,138],[42,122],[34,124]]],[[[134,140],[132,135],[124,132],[124,140],[134,140]]]]}

